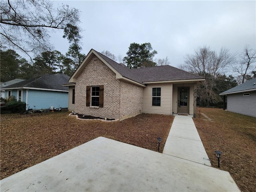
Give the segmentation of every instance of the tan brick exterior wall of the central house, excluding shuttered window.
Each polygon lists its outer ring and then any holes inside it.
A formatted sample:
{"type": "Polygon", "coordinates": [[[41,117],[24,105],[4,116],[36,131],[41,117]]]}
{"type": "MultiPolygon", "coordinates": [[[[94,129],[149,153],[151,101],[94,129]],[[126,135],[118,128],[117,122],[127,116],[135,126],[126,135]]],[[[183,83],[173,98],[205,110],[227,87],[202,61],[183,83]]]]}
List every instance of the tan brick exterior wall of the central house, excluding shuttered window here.
{"type": "Polygon", "coordinates": [[[116,79],[116,74],[94,56],[77,78],[75,112],[121,119],[142,113],[143,88],[116,79]],[[104,107],[86,107],[86,86],[104,85],[104,107]]]}

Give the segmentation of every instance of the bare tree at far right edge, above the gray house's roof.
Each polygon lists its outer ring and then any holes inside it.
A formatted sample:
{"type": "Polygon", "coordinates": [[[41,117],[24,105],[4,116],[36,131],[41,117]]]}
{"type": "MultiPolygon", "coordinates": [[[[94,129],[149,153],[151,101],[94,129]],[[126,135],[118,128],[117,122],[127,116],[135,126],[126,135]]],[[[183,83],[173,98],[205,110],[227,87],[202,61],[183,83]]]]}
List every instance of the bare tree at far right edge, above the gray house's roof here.
{"type": "Polygon", "coordinates": [[[233,65],[234,72],[237,72],[238,82],[244,83],[246,78],[250,77],[249,74],[252,74],[256,70],[256,50],[249,48],[248,45],[244,47],[244,51],[240,55],[240,60],[233,65]]]}

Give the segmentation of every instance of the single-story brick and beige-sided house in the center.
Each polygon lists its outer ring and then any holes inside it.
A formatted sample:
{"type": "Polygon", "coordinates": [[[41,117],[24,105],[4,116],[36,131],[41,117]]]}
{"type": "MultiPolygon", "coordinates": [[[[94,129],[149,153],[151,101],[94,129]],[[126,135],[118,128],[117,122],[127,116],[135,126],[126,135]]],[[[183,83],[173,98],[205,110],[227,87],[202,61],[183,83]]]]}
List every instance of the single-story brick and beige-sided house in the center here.
{"type": "Polygon", "coordinates": [[[122,120],[140,113],[193,115],[204,80],[169,65],[130,69],[91,49],[64,86],[69,110],[122,120]]]}

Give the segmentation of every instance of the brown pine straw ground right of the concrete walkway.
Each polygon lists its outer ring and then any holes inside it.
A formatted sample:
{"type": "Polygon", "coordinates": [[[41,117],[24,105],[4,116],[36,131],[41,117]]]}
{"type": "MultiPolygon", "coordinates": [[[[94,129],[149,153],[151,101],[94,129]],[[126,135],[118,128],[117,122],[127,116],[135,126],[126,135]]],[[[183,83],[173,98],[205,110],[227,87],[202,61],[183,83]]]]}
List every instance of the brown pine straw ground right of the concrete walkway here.
{"type": "Polygon", "coordinates": [[[215,108],[198,108],[197,114],[194,122],[212,166],[218,168],[214,151],[221,151],[220,169],[230,172],[242,192],[255,192],[256,118],[215,108]]]}

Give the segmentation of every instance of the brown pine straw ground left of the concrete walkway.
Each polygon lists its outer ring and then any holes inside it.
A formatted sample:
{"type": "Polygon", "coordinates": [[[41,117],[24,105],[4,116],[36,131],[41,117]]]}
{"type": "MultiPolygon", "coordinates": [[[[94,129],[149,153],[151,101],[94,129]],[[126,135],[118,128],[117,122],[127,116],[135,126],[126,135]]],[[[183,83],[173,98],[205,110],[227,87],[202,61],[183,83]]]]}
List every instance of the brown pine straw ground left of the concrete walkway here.
{"type": "Polygon", "coordinates": [[[69,112],[1,115],[1,179],[99,136],[157,151],[173,116],[140,114],[121,122],[83,121],[69,112]]]}

